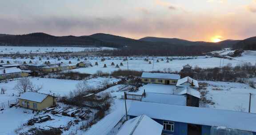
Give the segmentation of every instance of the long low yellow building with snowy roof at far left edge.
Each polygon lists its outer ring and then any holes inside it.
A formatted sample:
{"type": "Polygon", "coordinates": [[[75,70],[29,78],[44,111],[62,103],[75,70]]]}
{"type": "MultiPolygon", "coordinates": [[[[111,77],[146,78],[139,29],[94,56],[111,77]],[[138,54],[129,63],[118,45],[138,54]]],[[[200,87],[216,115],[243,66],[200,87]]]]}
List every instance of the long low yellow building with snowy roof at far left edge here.
{"type": "Polygon", "coordinates": [[[28,73],[20,70],[17,67],[1,68],[0,79],[13,79],[20,77],[27,77],[28,73]]]}

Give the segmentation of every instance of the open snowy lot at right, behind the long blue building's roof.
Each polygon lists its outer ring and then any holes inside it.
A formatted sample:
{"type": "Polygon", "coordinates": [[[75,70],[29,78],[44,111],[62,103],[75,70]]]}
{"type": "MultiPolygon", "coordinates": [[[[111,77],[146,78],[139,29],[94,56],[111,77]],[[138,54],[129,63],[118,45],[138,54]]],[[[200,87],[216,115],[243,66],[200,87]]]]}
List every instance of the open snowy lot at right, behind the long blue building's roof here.
{"type": "Polygon", "coordinates": [[[256,89],[244,83],[212,82],[208,83],[207,99],[212,99],[215,104],[208,104],[210,108],[244,111],[249,109],[249,93],[252,93],[251,112],[256,113],[256,89]]]}

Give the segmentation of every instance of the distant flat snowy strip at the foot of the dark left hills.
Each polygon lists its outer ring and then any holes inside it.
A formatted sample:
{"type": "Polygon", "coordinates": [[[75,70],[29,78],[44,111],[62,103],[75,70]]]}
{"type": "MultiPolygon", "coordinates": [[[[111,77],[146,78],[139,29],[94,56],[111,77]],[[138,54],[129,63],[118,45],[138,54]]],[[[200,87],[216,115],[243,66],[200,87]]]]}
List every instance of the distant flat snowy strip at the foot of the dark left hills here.
{"type": "Polygon", "coordinates": [[[0,46],[0,54],[15,53],[47,53],[47,52],[96,52],[100,50],[113,50],[108,47],[24,47],[24,46],[0,46]]]}

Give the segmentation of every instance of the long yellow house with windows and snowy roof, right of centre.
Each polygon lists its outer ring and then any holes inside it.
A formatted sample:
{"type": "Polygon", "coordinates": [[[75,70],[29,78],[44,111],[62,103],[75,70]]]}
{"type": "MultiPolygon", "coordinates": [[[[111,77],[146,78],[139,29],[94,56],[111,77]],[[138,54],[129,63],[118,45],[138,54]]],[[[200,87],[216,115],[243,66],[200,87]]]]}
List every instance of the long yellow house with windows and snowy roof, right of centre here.
{"type": "Polygon", "coordinates": [[[180,75],[169,73],[143,72],[141,75],[141,80],[143,83],[176,85],[178,79],[180,79],[180,75]]]}

